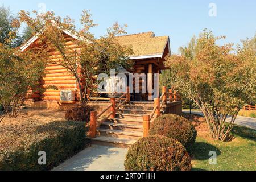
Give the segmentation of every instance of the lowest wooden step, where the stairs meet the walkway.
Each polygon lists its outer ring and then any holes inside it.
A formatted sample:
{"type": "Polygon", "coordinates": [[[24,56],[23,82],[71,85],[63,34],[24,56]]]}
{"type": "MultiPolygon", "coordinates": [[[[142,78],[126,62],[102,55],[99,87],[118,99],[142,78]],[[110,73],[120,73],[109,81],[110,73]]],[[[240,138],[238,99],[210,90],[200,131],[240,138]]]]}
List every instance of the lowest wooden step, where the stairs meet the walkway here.
{"type": "Polygon", "coordinates": [[[89,138],[92,144],[101,144],[104,146],[114,146],[121,148],[129,148],[137,140],[131,140],[127,138],[116,138],[116,137],[106,137],[98,136],[96,138],[89,138]]]}

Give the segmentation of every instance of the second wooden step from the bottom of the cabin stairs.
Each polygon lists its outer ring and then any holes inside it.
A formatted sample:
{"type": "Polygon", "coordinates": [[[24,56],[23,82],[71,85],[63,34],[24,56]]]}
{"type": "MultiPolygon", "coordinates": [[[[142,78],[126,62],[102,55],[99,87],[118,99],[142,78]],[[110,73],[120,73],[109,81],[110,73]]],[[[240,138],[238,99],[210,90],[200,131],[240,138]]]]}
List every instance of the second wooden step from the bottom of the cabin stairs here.
{"type": "Polygon", "coordinates": [[[127,139],[139,139],[143,137],[143,132],[138,131],[122,131],[122,130],[112,130],[112,129],[98,129],[100,136],[106,137],[116,137],[116,138],[127,138],[127,139]]]}

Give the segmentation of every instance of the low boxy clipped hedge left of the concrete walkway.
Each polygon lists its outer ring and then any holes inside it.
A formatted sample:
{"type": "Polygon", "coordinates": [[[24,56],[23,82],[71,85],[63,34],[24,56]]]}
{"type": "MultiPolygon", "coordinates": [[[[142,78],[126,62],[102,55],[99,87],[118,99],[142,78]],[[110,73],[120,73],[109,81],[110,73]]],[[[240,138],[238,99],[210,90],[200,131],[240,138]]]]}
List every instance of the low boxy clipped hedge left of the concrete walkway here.
{"type": "Polygon", "coordinates": [[[0,170],[47,170],[82,150],[86,145],[84,122],[35,120],[0,128],[0,170]],[[39,165],[39,151],[46,165],[39,165]]]}

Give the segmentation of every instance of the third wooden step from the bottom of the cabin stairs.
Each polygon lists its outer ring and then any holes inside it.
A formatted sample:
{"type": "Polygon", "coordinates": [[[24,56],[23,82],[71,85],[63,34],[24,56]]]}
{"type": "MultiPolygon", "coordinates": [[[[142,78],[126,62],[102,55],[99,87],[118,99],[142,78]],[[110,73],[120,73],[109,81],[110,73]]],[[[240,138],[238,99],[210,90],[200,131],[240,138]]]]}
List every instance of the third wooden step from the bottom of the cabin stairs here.
{"type": "Polygon", "coordinates": [[[141,131],[143,132],[142,125],[127,125],[112,122],[103,122],[100,126],[102,129],[122,130],[122,131],[141,131]]]}

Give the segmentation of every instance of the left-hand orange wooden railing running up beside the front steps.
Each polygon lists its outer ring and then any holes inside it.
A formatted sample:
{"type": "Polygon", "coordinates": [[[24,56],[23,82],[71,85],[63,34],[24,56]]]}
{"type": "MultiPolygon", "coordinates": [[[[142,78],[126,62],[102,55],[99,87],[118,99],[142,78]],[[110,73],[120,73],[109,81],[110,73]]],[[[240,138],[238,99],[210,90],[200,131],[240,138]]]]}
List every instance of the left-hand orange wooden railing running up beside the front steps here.
{"type": "Polygon", "coordinates": [[[101,113],[97,114],[97,111],[91,111],[90,112],[90,130],[89,130],[89,136],[91,138],[96,137],[96,131],[97,127],[100,127],[101,123],[106,121],[106,119],[115,118],[115,114],[117,109],[119,109],[121,106],[123,106],[125,103],[130,102],[130,92],[129,87],[126,89],[126,93],[123,93],[121,97],[119,98],[110,98],[110,105],[106,107],[104,110],[101,111],[101,113]],[[122,101],[122,102],[121,102],[122,101]],[[118,102],[121,102],[117,105],[118,102]],[[116,106],[117,105],[117,106],[116,106]],[[100,117],[106,113],[110,109],[110,113],[106,115],[104,118],[100,117]]]}

